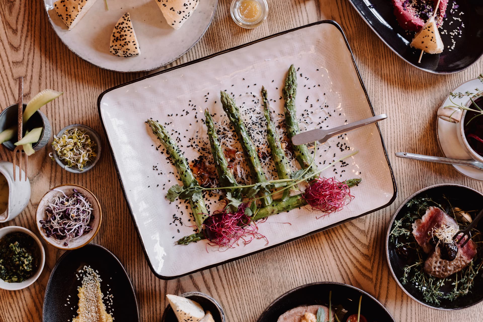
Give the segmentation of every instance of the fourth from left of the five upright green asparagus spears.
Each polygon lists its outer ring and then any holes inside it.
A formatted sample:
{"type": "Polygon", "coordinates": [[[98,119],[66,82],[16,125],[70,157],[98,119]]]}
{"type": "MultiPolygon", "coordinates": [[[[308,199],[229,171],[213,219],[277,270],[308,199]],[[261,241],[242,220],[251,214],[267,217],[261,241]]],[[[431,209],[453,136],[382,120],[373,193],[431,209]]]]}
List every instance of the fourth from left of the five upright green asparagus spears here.
{"type": "Polygon", "coordinates": [[[278,137],[277,127],[273,123],[273,118],[270,111],[269,101],[267,98],[267,90],[262,86],[262,98],[263,98],[263,112],[267,119],[267,140],[269,141],[271,156],[275,163],[279,179],[290,179],[290,163],[285,156],[282,143],[278,137]]]}

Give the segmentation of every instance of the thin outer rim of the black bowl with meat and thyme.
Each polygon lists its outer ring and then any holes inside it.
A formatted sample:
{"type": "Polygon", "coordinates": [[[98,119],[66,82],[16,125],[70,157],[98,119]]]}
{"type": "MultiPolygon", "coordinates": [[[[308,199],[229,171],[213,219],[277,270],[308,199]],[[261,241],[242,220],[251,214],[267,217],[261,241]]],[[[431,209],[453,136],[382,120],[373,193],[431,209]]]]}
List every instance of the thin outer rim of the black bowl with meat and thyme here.
{"type": "Polygon", "coordinates": [[[394,213],[391,216],[391,219],[389,220],[389,223],[387,224],[386,240],[385,240],[386,263],[387,263],[387,266],[389,266],[389,272],[391,273],[391,276],[392,276],[393,280],[396,281],[396,283],[398,284],[399,288],[404,293],[406,293],[406,295],[408,295],[409,297],[411,297],[412,300],[416,301],[417,303],[419,303],[419,304],[421,304],[421,305],[423,305],[423,306],[425,306],[427,308],[432,308],[432,309],[439,310],[439,311],[458,311],[458,310],[462,310],[462,309],[465,309],[465,308],[473,307],[473,306],[475,306],[475,305],[483,302],[483,298],[480,301],[476,302],[476,303],[473,303],[473,304],[470,304],[470,305],[467,305],[467,306],[464,306],[464,307],[461,307],[461,308],[438,308],[438,307],[432,306],[429,303],[426,303],[426,302],[423,302],[423,301],[417,299],[408,290],[406,290],[406,288],[404,287],[404,285],[402,285],[401,282],[399,281],[399,279],[397,278],[396,273],[394,273],[393,267],[391,265],[391,260],[389,258],[389,237],[390,237],[390,234],[391,234],[391,227],[394,224],[394,221],[396,220],[396,216],[399,214],[399,212],[402,210],[402,208],[409,202],[409,200],[411,200],[415,196],[417,196],[417,195],[419,195],[419,194],[421,194],[421,193],[423,193],[423,192],[425,192],[425,191],[427,191],[429,189],[438,188],[438,187],[447,187],[447,186],[466,188],[466,189],[472,190],[472,191],[476,192],[477,194],[483,196],[483,194],[481,192],[479,192],[478,190],[473,189],[471,187],[468,187],[466,185],[457,184],[457,183],[438,183],[438,184],[433,184],[433,185],[430,185],[430,186],[421,188],[421,189],[417,190],[416,192],[412,193],[409,197],[407,197],[406,199],[404,199],[404,201],[399,205],[399,207],[396,210],[394,210],[394,213]]]}

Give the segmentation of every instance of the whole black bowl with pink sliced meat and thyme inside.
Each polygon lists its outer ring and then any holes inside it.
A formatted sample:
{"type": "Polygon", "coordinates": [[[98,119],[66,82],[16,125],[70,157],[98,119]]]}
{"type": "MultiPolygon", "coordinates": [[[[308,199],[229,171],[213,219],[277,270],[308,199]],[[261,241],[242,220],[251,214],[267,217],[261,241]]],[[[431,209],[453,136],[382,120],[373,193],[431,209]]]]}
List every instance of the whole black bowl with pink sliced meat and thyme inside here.
{"type": "Polygon", "coordinates": [[[457,184],[426,187],[399,206],[388,224],[386,256],[406,294],[440,310],[469,308],[483,300],[483,249],[478,246],[483,221],[466,244],[454,238],[482,209],[483,195],[457,184]]]}

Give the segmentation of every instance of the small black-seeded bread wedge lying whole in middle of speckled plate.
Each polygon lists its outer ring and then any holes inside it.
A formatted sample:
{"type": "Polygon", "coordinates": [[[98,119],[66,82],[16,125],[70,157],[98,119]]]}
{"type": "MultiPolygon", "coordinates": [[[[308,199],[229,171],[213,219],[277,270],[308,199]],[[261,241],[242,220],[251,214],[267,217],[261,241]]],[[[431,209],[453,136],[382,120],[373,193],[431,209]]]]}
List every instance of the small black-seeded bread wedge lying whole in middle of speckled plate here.
{"type": "Polygon", "coordinates": [[[109,48],[111,53],[121,57],[131,57],[141,54],[136,33],[132,27],[131,17],[128,12],[123,14],[114,26],[109,48]]]}

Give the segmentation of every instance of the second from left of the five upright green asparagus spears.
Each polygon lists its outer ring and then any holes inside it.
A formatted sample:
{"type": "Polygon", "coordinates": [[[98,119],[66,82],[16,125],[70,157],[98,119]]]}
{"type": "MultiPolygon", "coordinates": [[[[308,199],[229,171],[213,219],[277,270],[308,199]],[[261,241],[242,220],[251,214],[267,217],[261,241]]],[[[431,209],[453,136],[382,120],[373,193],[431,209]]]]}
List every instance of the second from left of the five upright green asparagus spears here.
{"type": "MultiPolygon", "coordinates": [[[[213,124],[213,118],[208,110],[205,110],[205,124],[208,128],[208,138],[210,139],[211,152],[213,154],[214,166],[218,172],[218,179],[222,187],[234,187],[237,186],[237,182],[233,174],[228,169],[228,161],[223,153],[220,140],[216,134],[216,130],[213,124]]],[[[239,189],[230,189],[232,196],[235,196],[239,189]]]]}

